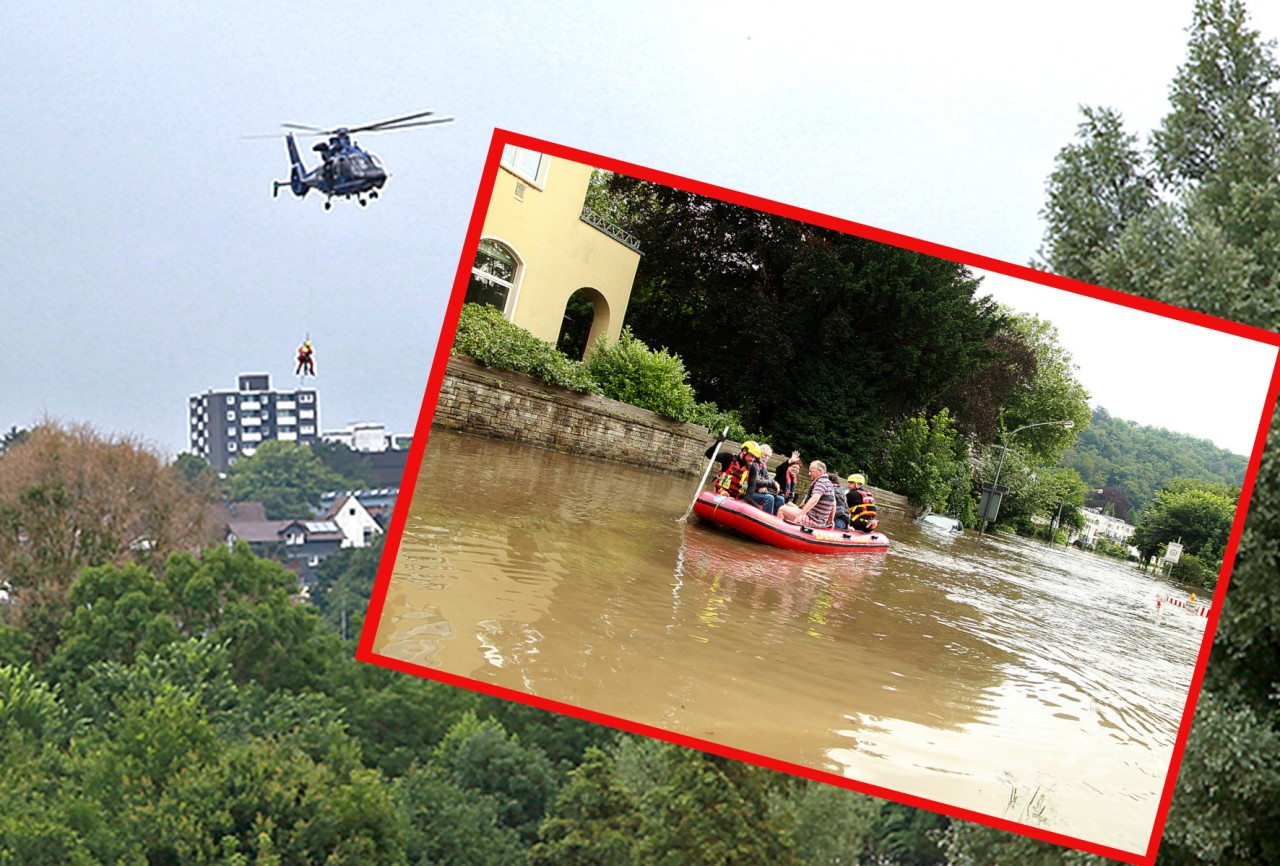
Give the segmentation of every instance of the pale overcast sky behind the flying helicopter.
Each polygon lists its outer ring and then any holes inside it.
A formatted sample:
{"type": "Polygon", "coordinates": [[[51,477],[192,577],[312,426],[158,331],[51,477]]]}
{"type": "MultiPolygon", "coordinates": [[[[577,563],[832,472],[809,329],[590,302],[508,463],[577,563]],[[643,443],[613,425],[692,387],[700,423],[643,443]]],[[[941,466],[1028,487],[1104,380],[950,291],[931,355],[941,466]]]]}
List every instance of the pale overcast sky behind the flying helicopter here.
{"type": "MultiPolygon", "coordinates": [[[[494,127],[1025,264],[1078,106],[1153,128],[1190,8],[9,0],[0,430],[178,453],[191,394],[285,386],[310,335],[324,427],[411,431],[494,127]],[[422,109],[458,120],[360,139],[393,175],[369,209],[273,200],[283,143],[243,138],[422,109]]],[[[1260,400],[1180,431],[1248,449],[1260,400]]]]}

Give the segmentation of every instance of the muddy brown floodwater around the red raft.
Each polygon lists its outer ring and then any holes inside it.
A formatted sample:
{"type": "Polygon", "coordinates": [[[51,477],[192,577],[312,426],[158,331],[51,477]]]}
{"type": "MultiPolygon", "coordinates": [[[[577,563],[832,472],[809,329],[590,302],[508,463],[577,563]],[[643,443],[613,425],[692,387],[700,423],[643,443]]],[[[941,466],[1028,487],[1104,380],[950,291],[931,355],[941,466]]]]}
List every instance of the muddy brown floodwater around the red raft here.
{"type": "Polygon", "coordinates": [[[886,516],[814,556],[692,478],[433,430],[375,651],[1146,848],[1204,619],[1130,567],[886,516]]]}

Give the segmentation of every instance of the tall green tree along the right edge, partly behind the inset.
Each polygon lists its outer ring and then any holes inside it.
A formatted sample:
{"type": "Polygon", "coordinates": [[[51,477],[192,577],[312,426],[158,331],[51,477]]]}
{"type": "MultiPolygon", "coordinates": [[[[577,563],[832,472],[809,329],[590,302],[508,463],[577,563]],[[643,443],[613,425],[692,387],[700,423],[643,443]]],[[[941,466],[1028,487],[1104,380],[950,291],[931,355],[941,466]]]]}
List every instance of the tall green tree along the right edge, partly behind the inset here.
{"type": "MultiPolygon", "coordinates": [[[[1240,0],[1197,0],[1170,111],[1146,171],[1160,203],[1084,262],[1047,226],[1066,276],[1275,330],[1280,326],[1280,68],[1240,0]]],[[[1059,166],[1069,165],[1070,148],[1059,166]]],[[[1100,179],[1105,180],[1105,179],[1100,179]]],[[[1082,215],[1075,223],[1087,223],[1082,215]]],[[[1270,862],[1280,820],[1280,416],[1256,478],[1196,724],[1161,849],[1165,862],[1270,862]],[[1233,757],[1228,757],[1233,756],[1233,757]],[[1242,779],[1243,776],[1243,779],[1242,779]]],[[[1117,485],[1123,486],[1123,485],[1117,485]]],[[[1007,862],[989,858],[993,862],[1007,862]]]]}

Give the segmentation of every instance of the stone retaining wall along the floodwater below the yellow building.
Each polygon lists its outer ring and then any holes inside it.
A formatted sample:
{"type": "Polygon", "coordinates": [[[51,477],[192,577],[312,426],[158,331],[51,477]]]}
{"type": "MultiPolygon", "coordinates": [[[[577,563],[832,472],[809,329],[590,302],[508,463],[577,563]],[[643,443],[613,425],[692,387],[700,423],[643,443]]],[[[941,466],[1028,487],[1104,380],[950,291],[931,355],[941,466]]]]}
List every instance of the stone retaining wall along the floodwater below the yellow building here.
{"type": "MultiPolygon", "coordinates": [[[[567,454],[620,461],[649,469],[700,476],[713,436],[705,427],[605,397],[577,394],[509,370],[490,370],[451,356],[433,425],[511,439],[567,454]]],[[[737,449],[737,443],[724,448],[737,449]]],[[[774,455],[771,468],[781,458],[774,455]]],[[[808,481],[801,472],[801,480],[808,481]]],[[[905,496],[872,487],[877,509],[915,517],[905,496]]]]}

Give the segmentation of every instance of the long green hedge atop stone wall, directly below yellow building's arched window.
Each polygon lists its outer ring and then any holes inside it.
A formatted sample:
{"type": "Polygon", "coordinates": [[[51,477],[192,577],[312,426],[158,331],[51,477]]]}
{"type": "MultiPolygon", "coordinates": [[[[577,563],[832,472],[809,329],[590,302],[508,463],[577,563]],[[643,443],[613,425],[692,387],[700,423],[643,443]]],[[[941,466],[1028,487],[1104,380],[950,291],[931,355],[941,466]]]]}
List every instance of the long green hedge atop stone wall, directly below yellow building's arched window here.
{"type": "Polygon", "coordinates": [[[571,361],[556,347],[502,317],[497,307],[462,304],[454,354],[475,358],[494,370],[512,370],[582,394],[599,394],[600,386],[580,361],[571,361]]]}

